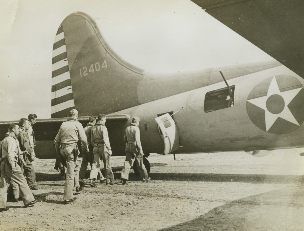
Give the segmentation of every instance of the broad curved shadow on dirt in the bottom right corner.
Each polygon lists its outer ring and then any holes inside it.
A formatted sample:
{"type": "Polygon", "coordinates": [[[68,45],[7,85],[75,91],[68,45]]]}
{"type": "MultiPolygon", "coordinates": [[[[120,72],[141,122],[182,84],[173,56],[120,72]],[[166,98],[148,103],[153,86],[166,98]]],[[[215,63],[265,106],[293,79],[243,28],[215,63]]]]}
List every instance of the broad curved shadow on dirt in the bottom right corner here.
{"type": "Polygon", "coordinates": [[[276,225],[271,230],[302,230],[304,185],[299,180],[295,187],[285,188],[241,198],[225,205],[216,207],[191,221],[183,222],[159,231],[209,231],[209,230],[270,230],[269,226],[276,225]],[[290,209],[292,208],[292,219],[290,209]],[[289,224],[283,217],[289,219],[289,224]],[[293,225],[299,227],[292,227],[293,225]],[[264,226],[264,227],[263,227],[264,226]],[[295,229],[293,229],[295,228],[295,229]]]}

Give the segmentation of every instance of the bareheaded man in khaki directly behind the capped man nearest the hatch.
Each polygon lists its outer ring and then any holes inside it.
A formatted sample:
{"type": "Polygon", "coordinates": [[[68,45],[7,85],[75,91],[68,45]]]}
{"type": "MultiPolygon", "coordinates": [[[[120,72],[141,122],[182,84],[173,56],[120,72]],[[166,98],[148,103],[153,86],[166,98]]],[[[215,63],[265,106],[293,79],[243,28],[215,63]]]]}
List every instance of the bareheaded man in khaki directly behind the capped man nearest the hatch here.
{"type": "Polygon", "coordinates": [[[104,114],[99,114],[97,117],[97,123],[94,128],[92,128],[91,134],[91,144],[93,145],[93,165],[90,172],[90,183],[91,187],[97,187],[95,184],[95,179],[97,178],[98,169],[100,167],[100,158],[103,161],[105,167],[105,178],[106,184],[114,184],[114,174],[111,168],[110,156],[112,155],[112,150],[109,142],[108,129],[105,126],[106,117],[104,114]]]}

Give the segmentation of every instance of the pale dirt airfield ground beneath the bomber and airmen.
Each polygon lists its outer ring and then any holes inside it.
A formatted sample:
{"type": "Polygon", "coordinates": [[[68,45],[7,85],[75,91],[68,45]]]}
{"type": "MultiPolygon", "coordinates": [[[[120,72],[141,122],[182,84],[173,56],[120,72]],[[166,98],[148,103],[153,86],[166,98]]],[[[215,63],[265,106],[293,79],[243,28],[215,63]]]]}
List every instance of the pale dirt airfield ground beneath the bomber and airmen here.
{"type": "Polygon", "coordinates": [[[39,202],[7,202],[0,230],[304,230],[301,152],[151,154],[151,182],[131,170],[128,185],[119,180],[124,157],[112,157],[115,184],[74,191],[68,205],[55,160],[36,159],[39,202]]]}

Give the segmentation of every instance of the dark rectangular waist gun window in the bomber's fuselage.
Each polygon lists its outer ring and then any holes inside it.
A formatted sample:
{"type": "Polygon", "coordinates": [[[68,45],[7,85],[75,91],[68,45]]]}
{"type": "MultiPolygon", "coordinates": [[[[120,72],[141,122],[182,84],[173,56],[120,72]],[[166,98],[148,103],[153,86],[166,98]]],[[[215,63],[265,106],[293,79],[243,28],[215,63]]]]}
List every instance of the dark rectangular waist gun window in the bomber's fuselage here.
{"type": "Polygon", "coordinates": [[[207,92],[204,104],[205,112],[213,112],[232,107],[234,104],[234,88],[234,85],[230,86],[231,93],[229,92],[229,88],[221,88],[207,92]]]}

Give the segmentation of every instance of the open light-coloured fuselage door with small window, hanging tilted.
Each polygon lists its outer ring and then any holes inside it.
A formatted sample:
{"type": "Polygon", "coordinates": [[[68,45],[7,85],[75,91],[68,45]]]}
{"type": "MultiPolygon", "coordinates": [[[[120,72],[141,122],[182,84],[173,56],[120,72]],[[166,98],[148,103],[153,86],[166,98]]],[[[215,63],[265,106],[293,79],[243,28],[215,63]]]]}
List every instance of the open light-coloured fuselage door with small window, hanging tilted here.
{"type": "Polygon", "coordinates": [[[176,124],[169,113],[162,116],[156,117],[161,133],[163,135],[163,140],[165,144],[164,154],[168,154],[178,150],[179,146],[179,136],[176,124]]]}

